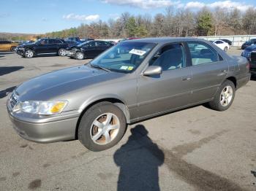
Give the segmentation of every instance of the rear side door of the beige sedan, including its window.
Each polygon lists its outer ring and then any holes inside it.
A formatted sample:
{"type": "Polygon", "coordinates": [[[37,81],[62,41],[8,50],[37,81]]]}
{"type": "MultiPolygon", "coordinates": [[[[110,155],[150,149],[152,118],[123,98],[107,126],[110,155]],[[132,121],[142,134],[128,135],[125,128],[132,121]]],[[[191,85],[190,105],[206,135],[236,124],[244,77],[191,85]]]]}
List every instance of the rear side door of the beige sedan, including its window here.
{"type": "Polygon", "coordinates": [[[192,103],[214,97],[227,76],[228,64],[213,47],[204,42],[187,42],[192,62],[192,103]]]}

